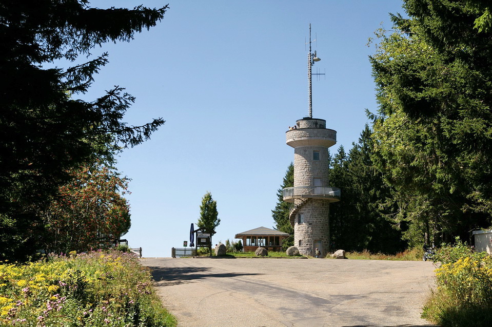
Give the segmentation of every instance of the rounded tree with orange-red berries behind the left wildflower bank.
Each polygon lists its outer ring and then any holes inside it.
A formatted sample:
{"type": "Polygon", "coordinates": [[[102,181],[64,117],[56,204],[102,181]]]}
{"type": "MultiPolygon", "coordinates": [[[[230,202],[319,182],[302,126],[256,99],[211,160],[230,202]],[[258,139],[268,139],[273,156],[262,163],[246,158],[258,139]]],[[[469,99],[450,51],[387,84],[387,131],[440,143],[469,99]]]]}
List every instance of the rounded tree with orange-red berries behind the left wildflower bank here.
{"type": "Polygon", "coordinates": [[[112,167],[94,163],[71,173],[72,181],[43,213],[47,252],[88,251],[113,243],[130,228],[124,198],[128,181],[112,167]]]}

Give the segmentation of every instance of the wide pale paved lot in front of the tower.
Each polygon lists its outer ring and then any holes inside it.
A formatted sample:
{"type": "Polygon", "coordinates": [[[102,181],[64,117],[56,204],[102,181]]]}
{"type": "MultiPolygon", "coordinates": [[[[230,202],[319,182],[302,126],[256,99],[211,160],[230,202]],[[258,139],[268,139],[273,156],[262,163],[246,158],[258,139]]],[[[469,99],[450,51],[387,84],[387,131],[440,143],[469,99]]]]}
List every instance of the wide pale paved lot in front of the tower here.
{"type": "Polygon", "coordinates": [[[350,259],[145,258],[179,326],[430,326],[434,265],[350,259]]]}

